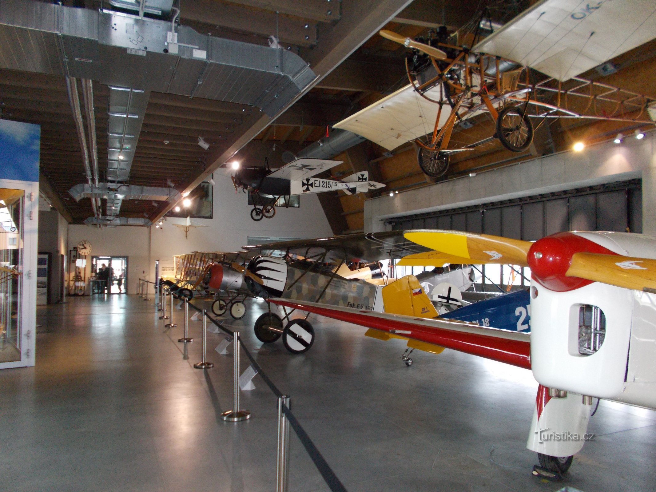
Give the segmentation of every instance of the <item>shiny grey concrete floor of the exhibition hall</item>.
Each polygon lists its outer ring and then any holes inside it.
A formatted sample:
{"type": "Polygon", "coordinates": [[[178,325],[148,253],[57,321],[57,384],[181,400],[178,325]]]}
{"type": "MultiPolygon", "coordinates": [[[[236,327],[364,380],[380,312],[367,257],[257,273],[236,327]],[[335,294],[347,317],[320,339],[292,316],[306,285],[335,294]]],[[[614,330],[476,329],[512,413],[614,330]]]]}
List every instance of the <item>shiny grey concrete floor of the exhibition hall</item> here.
{"type": "MultiPolygon", "coordinates": [[[[260,377],[242,392],[247,422],[232,405],[232,355],[213,348],[201,371],[199,321],[188,351],[152,300],[133,295],[70,298],[39,308],[37,365],[0,371],[2,491],[273,491],[276,399],[260,377]]],[[[207,304],[209,308],[209,303],[207,304]]],[[[525,449],[537,383],[529,371],[446,350],[413,354],[400,340],[314,318],[317,340],[292,356],[262,346],[253,321],[230,325],[274,382],[350,492],[653,491],[656,412],[602,401],[567,482],[531,476],[525,449]]],[[[229,348],[232,352],[232,347],[229,348]]],[[[242,358],[243,369],[247,366],[242,358]]],[[[243,370],[242,369],[242,370],[243,370]]],[[[329,490],[292,432],[291,491],[329,490]]]]}

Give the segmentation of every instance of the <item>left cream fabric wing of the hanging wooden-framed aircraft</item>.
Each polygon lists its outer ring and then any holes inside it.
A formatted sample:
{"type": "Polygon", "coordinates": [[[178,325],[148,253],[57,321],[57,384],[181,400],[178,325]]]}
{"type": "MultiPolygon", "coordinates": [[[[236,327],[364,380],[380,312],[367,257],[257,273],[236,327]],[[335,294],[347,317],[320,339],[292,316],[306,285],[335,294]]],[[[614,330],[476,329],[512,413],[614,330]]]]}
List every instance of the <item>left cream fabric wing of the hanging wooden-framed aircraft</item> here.
{"type": "MultiPolygon", "coordinates": [[[[439,100],[440,87],[430,89],[426,96],[439,100]]],[[[417,94],[411,85],[406,85],[375,104],[342,119],[337,125],[333,125],[333,128],[357,133],[387,150],[392,150],[405,142],[432,133],[439,108],[438,104],[417,94]]],[[[451,107],[448,104],[442,107],[440,127],[450,113],[451,107]]]]}

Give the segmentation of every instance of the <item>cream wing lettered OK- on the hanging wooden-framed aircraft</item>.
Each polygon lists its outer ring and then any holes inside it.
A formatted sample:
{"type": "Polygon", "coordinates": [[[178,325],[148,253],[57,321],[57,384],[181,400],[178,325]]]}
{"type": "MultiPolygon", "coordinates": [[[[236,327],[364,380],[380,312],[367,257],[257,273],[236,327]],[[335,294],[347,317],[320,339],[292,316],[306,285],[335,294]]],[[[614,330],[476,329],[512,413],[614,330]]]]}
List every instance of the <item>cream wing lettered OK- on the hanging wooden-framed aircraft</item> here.
{"type": "Polygon", "coordinates": [[[502,56],[565,81],[655,37],[653,0],[543,0],[473,51],[502,56]]]}

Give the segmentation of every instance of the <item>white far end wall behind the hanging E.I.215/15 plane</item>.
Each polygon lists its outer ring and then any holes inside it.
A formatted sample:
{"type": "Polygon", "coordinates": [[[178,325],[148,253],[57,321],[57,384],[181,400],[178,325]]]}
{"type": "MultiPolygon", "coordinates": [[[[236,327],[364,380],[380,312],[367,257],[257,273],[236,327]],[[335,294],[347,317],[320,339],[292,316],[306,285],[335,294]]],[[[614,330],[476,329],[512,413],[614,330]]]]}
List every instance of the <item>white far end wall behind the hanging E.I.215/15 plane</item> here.
{"type": "MultiPolygon", "coordinates": [[[[239,251],[247,244],[248,236],[322,237],[333,236],[328,220],[316,195],[300,197],[297,209],[276,207],[274,218],[251,220],[248,196],[235,193],[229,176],[215,173],[214,218],[193,219],[206,227],[194,228],[184,237],[183,219],[168,218],[162,228],[116,227],[92,228],[84,225],[68,226],[68,247],[75,247],[82,239],[92,245],[92,256],[128,256],[128,289],[136,292],[139,277],[154,279],[154,261],[172,262],[173,255],[192,251],[239,251]],[[149,259],[150,258],[150,259],[149,259]]],[[[88,258],[91,263],[91,257],[88,258]]],[[[90,268],[90,266],[88,267],[90,268]]],[[[87,278],[89,272],[87,272],[87,278]]]]}

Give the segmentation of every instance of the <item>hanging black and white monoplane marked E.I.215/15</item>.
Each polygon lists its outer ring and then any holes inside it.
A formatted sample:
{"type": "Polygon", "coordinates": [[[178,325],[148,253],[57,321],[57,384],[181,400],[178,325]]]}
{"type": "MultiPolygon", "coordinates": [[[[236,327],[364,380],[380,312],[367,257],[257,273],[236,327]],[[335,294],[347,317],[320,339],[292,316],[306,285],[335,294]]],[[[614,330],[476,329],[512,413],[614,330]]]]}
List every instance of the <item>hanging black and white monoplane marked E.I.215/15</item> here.
{"type": "Polygon", "coordinates": [[[321,192],[343,190],[348,195],[365,193],[385,186],[382,183],[369,181],[369,171],[351,174],[342,180],[316,177],[339,164],[342,161],[327,159],[296,159],[278,169],[269,169],[268,159],[264,167],[240,167],[232,176],[235,190],[241,188],[251,194],[253,210],[251,218],[255,221],[263,217],[272,218],[276,215],[276,203],[283,198],[289,206],[289,197],[321,192]],[[273,198],[272,203],[264,204],[262,197],[273,198]]]}

